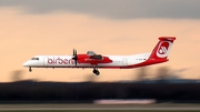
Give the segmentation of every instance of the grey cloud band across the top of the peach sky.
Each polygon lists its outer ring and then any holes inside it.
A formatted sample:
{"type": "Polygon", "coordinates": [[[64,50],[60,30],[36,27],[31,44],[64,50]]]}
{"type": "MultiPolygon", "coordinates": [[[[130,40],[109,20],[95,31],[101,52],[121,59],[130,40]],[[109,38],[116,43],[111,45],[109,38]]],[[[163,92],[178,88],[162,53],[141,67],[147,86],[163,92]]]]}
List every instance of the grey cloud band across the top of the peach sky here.
{"type": "Polygon", "coordinates": [[[0,0],[0,7],[13,6],[36,14],[68,11],[109,19],[200,18],[200,0],[0,0]]]}

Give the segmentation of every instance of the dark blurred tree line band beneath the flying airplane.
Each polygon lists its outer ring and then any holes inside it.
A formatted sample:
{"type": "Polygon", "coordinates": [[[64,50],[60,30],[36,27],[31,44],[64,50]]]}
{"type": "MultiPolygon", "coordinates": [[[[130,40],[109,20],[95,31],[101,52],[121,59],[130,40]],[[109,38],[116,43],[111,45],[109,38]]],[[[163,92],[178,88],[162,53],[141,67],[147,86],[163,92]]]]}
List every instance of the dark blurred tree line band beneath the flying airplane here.
{"type": "Polygon", "coordinates": [[[92,102],[100,99],[156,99],[158,102],[200,102],[200,83],[0,83],[0,102],[92,102]]]}

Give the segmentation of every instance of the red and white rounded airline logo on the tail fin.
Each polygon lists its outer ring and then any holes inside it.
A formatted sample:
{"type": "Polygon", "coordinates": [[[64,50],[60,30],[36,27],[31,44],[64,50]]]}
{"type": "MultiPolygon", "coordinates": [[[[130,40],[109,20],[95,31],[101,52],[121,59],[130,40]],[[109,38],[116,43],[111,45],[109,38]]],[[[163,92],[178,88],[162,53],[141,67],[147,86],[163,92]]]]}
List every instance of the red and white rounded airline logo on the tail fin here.
{"type": "Polygon", "coordinates": [[[157,57],[159,58],[166,58],[169,54],[170,48],[171,48],[171,42],[170,41],[162,41],[159,44],[159,48],[157,50],[157,57]]]}

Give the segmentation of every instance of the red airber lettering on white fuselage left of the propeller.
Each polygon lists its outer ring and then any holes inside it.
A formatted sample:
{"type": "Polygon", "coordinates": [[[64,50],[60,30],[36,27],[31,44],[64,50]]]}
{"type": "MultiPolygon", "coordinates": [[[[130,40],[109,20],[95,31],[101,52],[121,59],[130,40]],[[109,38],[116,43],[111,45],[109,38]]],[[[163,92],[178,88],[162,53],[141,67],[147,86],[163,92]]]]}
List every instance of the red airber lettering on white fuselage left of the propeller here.
{"type": "Polygon", "coordinates": [[[74,64],[72,59],[48,58],[48,64],[74,64]]]}

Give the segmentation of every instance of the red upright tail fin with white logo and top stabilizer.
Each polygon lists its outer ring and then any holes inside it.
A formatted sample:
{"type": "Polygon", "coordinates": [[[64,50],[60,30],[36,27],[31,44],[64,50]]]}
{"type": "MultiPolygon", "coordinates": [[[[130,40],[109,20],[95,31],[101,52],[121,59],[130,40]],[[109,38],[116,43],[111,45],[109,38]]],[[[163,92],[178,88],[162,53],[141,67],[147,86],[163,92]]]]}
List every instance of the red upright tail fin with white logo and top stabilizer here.
{"type": "Polygon", "coordinates": [[[167,58],[176,38],[174,37],[160,37],[159,40],[160,41],[157,43],[153,51],[151,52],[149,60],[168,61],[167,58]]]}

